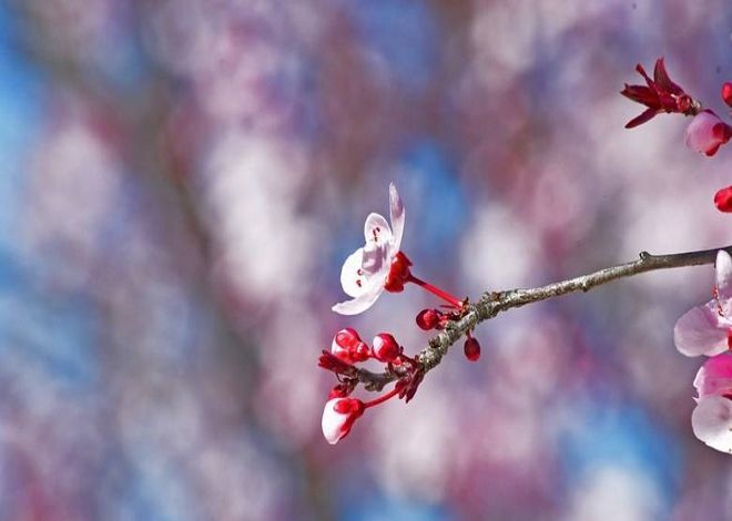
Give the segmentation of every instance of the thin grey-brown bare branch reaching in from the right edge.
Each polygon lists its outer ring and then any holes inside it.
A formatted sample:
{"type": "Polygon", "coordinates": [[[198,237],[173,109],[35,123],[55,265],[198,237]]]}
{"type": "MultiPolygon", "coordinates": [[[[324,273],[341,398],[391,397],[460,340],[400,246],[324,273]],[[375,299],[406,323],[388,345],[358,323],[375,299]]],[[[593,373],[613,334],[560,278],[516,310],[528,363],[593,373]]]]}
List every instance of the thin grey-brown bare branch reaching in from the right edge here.
{"type": "MultiPolygon", "coordinates": [[[[466,304],[461,318],[448,321],[445,329],[436,337],[430,338],[428,346],[415,358],[421,364],[424,372],[427,372],[441,361],[448,349],[464,335],[471,331],[481,321],[494,318],[501,311],[570,293],[586,293],[597,286],[619,278],[632,277],[633,275],[647,272],[714,264],[716,253],[720,249],[732,254],[732,246],[669,255],[651,255],[648,252],[641,252],[638,260],[607,267],[546,286],[505,292],[486,292],[475,304],[466,304]]],[[[357,378],[367,390],[373,391],[382,390],[387,384],[404,376],[404,372],[405,369],[398,366],[385,372],[373,372],[367,369],[353,368],[353,377],[357,378]]]]}

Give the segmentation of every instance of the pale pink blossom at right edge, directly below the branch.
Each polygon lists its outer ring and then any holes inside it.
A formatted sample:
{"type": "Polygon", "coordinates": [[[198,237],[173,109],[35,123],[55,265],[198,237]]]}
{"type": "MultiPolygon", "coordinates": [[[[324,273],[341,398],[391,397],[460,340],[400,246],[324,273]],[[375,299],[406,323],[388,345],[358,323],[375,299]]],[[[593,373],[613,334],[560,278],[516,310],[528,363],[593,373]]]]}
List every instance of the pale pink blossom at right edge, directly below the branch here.
{"type": "Polygon", "coordinates": [[[732,257],[716,254],[714,298],[687,311],[673,328],[673,341],[687,356],[715,356],[729,349],[732,331],[732,257]]]}

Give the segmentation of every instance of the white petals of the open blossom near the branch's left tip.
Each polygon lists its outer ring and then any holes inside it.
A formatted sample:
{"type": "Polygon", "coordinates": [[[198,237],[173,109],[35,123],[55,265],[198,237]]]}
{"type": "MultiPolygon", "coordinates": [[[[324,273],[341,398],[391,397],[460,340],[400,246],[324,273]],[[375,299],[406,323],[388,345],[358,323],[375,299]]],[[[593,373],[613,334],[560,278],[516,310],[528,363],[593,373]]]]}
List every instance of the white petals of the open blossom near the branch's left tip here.
{"type": "Polygon", "coordinates": [[[336,304],[334,311],[357,315],[368,309],[384,292],[392,265],[400,258],[404,232],[404,204],[394,183],[389,184],[389,214],[392,226],[379,214],[366,217],[366,245],[350,254],[340,270],[343,290],[353,299],[336,304]]]}

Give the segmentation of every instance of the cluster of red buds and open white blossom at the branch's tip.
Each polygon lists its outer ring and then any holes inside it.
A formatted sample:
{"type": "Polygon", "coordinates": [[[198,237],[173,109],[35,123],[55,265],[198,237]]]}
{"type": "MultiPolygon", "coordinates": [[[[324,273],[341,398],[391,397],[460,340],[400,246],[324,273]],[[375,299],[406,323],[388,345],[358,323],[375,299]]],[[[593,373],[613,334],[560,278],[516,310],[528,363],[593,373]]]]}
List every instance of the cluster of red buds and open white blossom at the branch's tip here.
{"type": "MultiPolygon", "coordinates": [[[[451,320],[460,319],[468,300],[458,299],[449,293],[433,286],[413,275],[413,263],[400,251],[404,232],[405,210],[394,186],[389,185],[389,217],[377,213],[366,217],[364,236],[366,244],[346,258],[340,272],[340,284],[350,300],[338,303],[333,310],[342,315],[357,315],[368,309],[384,293],[401,293],[409,283],[441,298],[443,309],[424,309],[417,315],[417,325],[424,330],[440,330],[451,320]]],[[[480,356],[480,345],[470,334],[465,344],[465,355],[469,360],[480,356]]],[[[331,390],[323,411],[323,435],[329,443],[337,443],[350,432],[356,419],[366,409],[387,401],[393,397],[411,400],[421,382],[426,369],[418,357],[409,357],[389,333],[379,333],[370,347],[353,328],[340,329],[333,338],[331,350],[323,350],[318,365],[332,372],[338,384],[331,390]],[[387,380],[374,384],[374,374],[357,367],[357,364],[376,360],[385,364],[387,380]],[[367,390],[382,390],[386,381],[396,380],[394,389],[370,401],[350,397],[359,382],[367,390]]]]}

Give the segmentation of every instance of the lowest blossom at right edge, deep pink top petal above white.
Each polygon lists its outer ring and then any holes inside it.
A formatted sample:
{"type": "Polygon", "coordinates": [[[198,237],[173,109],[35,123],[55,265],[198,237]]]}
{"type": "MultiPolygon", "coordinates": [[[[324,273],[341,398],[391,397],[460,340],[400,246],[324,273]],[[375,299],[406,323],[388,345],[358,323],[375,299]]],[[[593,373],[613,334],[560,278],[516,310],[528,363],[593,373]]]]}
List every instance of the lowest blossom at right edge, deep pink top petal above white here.
{"type": "Polygon", "coordinates": [[[694,387],[699,395],[691,413],[694,436],[713,449],[732,453],[732,353],[706,360],[694,387]]]}

